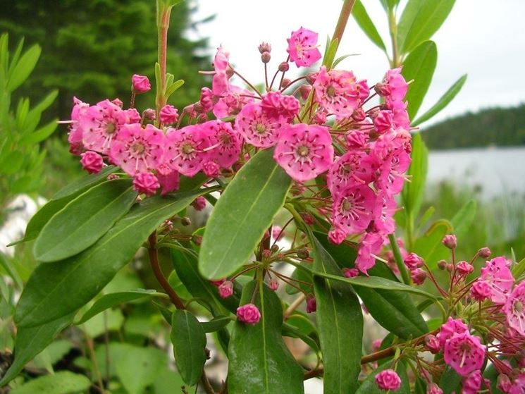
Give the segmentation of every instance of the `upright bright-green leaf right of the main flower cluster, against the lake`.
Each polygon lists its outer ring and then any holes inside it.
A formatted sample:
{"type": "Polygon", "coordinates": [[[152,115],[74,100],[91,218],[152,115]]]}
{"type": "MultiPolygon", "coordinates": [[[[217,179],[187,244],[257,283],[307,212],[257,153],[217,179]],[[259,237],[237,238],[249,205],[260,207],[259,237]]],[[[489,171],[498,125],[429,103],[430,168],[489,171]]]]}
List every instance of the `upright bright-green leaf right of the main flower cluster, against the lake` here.
{"type": "Polygon", "coordinates": [[[417,133],[412,137],[412,163],[408,169],[410,182],[405,183],[402,191],[402,204],[410,228],[414,228],[414,220],[419,214],[425,195],[426,175],[428,172],[428,149],[417,133]]]}

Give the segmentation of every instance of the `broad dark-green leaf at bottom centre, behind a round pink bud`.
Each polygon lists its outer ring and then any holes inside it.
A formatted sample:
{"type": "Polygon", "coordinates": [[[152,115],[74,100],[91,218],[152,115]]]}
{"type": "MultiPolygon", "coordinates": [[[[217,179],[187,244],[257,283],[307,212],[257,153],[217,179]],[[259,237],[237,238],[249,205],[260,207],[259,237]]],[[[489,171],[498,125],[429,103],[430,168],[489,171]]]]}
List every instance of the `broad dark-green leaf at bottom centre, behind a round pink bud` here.
{"type": "Polygon", "coordinates": [[[242,291],[241,304],[252,302],[261,312],[259,323],[236,321],[228,349],[228,393],[302,394],[303,371],[281,336],[283,308],[276,293],[252,281],[242,291]]]}

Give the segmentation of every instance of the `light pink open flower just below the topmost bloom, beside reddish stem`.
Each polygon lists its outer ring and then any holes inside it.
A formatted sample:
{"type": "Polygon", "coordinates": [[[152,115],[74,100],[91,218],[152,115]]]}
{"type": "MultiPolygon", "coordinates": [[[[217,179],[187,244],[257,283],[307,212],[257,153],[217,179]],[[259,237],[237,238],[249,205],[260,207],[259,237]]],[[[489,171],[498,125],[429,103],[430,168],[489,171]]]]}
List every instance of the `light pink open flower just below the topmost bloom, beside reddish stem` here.
{"type": "Polygon", "coordinates": [[[360,90],[352,71],[328,71],[325,66],[321,66],[314,82],[316,102],[338,118],[352,116],[361,104],[360,90]]]}

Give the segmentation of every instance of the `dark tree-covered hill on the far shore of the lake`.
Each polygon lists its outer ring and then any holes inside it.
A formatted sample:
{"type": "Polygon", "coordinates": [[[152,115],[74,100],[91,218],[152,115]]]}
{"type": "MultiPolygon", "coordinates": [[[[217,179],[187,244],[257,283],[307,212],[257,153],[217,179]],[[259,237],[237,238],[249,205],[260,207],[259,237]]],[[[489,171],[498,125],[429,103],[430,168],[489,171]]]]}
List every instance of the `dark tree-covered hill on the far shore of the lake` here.
{"type": "Polygon", "coordinates": [[[525,145],[525,104],[468,112],[422,130],[431,149],[525,145]]]}

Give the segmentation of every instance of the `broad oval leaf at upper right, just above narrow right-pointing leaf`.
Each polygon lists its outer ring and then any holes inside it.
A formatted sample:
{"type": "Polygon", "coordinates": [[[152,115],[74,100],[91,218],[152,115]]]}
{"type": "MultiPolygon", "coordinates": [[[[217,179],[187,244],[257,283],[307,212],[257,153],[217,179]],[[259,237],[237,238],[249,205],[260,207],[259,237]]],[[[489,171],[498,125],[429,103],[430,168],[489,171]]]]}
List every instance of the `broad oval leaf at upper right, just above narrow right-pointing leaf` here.
{"type": "Polygon", "coordinates": [[[436,63],[438,61],[438,49],[433,41],[426,41],[410,52],[403,62],[402,75],[405,80],[412,82],[408,87],[405,100],[408,102],[407,111],[409,118],[414,119],[423,102],[432,81],[436,63]]]}

